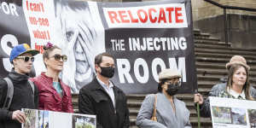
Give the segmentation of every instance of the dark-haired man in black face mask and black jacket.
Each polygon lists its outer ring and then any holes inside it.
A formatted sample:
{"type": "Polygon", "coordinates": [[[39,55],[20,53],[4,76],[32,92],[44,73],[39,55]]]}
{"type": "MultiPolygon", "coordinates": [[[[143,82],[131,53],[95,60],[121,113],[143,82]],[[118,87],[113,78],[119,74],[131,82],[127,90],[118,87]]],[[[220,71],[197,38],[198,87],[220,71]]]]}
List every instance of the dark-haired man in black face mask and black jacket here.
{"type": "Polygon", "coordinates": [[[96,114],[97,128],[129,128],[125,93],[109,79],[114,74],[113,56],[95,57],[96,78],[79,91],[79,113],[96,114]]]}

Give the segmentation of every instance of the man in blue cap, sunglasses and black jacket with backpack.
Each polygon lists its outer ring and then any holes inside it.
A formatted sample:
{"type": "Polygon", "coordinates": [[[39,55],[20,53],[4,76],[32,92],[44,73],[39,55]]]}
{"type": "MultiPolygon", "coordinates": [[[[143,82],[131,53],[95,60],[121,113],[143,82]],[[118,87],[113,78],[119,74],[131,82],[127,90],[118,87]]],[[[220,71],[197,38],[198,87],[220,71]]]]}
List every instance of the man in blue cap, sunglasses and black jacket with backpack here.
{"type": "Polygon", "coordinates": [[[0,79],[1,128],[21,128],[21,123],[24,123],[26,119],[25,114],[20,111],[21,108],[38,108],[38,89],[34,86],[33,91],[27,80],[34,61],[32,56],[38,53],[38,50],[30,49],[28,44],[19,44],[11,51],[9,60],[14,68],[7,77],[14,85],[14,95],[9,108],[3,108],[8,84],[5,80],[0,79]]]}

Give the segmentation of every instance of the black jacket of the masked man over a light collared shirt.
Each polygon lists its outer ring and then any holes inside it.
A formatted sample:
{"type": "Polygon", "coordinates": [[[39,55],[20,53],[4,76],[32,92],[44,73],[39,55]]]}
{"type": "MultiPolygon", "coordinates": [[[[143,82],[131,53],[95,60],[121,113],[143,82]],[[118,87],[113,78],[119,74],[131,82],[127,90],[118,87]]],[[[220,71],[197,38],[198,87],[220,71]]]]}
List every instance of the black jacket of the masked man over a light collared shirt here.
{"type": "Polygon", "coordinates": [[[129,110],[125,93],[113,86],[115,109],[108,93],[97,79],[79,90],[79,113],[96,114],[97,128],[129,128],[129,110]]]}

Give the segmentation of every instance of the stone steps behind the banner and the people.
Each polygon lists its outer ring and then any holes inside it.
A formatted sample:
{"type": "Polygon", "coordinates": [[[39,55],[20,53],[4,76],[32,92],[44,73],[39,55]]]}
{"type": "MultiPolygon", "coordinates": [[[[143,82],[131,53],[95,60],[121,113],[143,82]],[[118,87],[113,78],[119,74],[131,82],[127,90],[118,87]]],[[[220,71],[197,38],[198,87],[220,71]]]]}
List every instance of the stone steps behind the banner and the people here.
{"type": "MultiPolygon", "coordinates": [[[[222,83],[220,79],[227,78],[225,64],[233,55],[243,55],[251,67],[251,84],[256,85],[256,49],[235,49],[231,44],[220,42],[219,38],[212,38],[208,33],[194,30],[195,66],[197,71],[198,92],[207,97],[212,86],[222,83]]],[[[136,126],[137,113],[146,95],[127,95],[127,104],[130,110],[131,126],[136,126]]],[[[197,113],[195,112],[194,94],[179,94],[177,98],[186,103],[190,111],[190,123],[197,127],[197,113]]],[[[78,111],[78,95],[73,95],[73,107],[78,111]]],[[[210,118],[201,118],[201,128],[212,128],[210,118]]]]}

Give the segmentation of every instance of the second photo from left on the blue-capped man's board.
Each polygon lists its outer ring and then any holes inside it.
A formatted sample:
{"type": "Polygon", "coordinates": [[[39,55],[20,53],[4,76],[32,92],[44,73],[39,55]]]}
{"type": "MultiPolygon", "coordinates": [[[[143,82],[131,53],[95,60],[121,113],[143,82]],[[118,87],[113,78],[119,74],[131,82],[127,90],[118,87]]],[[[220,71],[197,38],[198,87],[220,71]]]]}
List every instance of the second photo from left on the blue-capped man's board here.
{"type": "Polygon", "coordinates": [[[39,128],[49,128],[49,111],[38,111],[39,128]]]}

